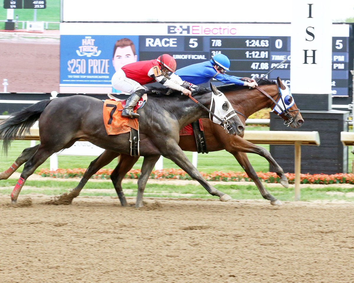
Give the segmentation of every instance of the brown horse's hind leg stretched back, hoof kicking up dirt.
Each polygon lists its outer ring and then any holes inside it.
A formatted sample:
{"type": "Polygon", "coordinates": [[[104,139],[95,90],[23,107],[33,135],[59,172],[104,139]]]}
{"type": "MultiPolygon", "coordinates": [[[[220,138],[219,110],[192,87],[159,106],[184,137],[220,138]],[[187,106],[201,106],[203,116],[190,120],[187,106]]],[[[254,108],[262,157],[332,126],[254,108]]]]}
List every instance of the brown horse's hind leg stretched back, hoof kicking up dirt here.
{"type": "Polygon", "coordinates": [[[63,204],[72,203],[73,199],[80,194],[82,188],[86,185],[87,181],[92,177],[92,175],[95,174],[103,166],[109,164],[117,156],[119,156],[118,152],[110,150],[103,151],[100,156],[98,156],[90,163],[90,166],[86,169],[79,184],[72,191],[70,191],[69,194],[64,193],[61,195],[57,202],[63,204]]]}

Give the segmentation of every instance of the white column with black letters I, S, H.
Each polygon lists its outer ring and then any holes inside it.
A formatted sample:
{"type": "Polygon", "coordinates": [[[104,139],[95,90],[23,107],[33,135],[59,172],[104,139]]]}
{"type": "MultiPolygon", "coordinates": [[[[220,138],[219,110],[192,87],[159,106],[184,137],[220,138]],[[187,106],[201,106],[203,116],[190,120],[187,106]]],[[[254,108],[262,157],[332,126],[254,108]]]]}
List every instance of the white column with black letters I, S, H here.
{"type": "Polygon", "coordinates": [[[292,1],[292,93],[329,94],[332,79],[332,21],[329,1],[292,1]]]}

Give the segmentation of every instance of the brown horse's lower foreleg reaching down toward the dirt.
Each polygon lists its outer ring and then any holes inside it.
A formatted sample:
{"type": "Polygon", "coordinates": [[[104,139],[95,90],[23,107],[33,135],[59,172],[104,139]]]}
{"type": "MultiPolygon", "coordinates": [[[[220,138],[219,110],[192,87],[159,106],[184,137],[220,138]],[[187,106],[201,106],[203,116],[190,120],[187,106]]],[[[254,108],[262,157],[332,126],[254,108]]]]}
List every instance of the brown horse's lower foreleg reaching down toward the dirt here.
{"type": "Polygon", "coordinates": [[[259,180],[257,173],[255,172],[255,169],[253,169],[247,154],[245,152],[232,152],[233,156],[237,159],[237,161],[240,163],[242,168],[245,170],[246,174],[248,177],[250,177],[253,182],[255,182],[259,192],[261,193],[262,197],[265,198],[266,200],[270,201],[270,204],[273,206],[281,206],[281,201],[276,199],[274,196],[269,194],[269,192],[265,189],[261,181],[259,180]]]}

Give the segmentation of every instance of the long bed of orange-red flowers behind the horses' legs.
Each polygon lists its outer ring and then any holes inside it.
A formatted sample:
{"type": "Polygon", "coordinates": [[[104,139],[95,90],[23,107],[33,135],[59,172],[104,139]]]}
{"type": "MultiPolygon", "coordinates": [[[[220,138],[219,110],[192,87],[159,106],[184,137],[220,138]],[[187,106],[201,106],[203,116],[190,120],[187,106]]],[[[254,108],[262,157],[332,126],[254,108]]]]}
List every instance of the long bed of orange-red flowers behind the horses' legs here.
{"type": "MultiPolygon", "coordinates": [[[[81,178],[84,175],[86,169],[76,168],[76,169],[58,169],[56,171],[49,171],[48,169],[42,169],[38,174],[42,177],[51,178],[81,178]]],[[[91,178],[93,179],[109,179],[110,174],[113,169],[100,169],[91,178]]],[[[221,172],[216,171],[211,174],[201,172],[202,176],[207,181],[250,181],[252,179],[247,176],[245,172],[221,172]]],[[[125,178],[137,179],[139,178],[140,170],[129,171],[125,178]]],[[[278,183],[279,177],[274,172],[257,172],[260,180],[265,183],[278,183]]],[[[290,184],[295,182],[295,174],[285,173],[290,184]]],[[[151,172],[150,179],[181,179],[181,180],[191,180],[190,176],[184,172],[182,169],[163,169],[155,170],[151,172]]],[[[300,174],[301,184],[354,184],[354,174],[300,174]]]]}

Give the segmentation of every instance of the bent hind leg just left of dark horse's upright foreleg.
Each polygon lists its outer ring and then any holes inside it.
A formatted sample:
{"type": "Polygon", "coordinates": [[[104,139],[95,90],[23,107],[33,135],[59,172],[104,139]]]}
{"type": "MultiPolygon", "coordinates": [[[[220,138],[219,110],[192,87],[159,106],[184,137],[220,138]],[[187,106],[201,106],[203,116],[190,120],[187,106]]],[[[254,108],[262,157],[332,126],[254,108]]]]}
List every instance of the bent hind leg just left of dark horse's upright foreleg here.
{"type": "Polygon", "coordinates": [[[139,157],[121,154],[118,165],[115,167],[110,176],[122,206],[129,206],[122,190],[122,180],[125,174],[129,172],[138,159],[139,157]]]}

